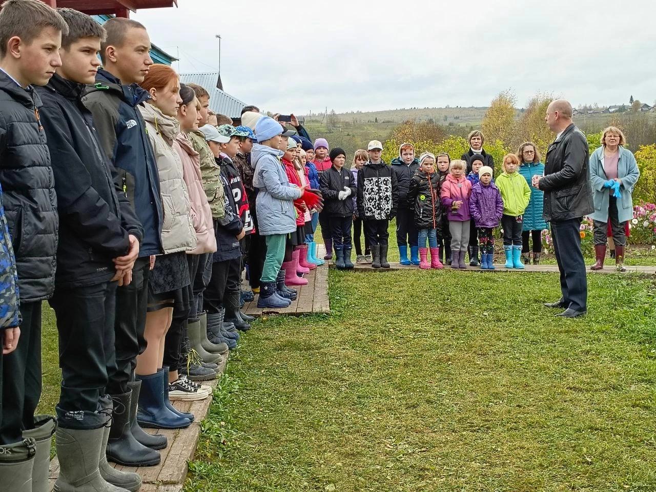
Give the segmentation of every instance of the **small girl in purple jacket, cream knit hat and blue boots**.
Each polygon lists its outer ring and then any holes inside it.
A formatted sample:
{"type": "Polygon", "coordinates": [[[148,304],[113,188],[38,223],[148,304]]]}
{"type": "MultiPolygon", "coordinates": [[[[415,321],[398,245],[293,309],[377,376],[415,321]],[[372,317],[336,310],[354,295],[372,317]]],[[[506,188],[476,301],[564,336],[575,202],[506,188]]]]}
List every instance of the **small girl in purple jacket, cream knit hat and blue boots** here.
{"type": "Polygon", "coordinates": [[[469,210],[478,228],[481,248],[481,270],[495,270],[493,230],[503,215],[503,200],[499,188],[492,182],[492,168],[483,166],[478,171],[480,182],[474,184],[469,199],[469,210]]]}

